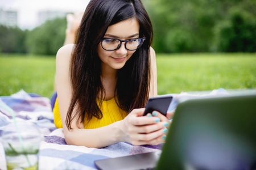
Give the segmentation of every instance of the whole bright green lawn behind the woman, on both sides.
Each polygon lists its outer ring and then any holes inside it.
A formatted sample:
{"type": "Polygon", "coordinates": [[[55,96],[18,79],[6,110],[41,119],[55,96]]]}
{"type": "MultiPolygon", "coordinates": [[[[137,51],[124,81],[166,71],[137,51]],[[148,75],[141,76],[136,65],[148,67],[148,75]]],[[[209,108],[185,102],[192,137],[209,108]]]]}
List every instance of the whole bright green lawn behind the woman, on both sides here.
{"type": "MultiPolygon", "coordinates": [[[[256,88],[256,54],[156,54],[158,94],[256,88]]],[[[55,57],[0,54],[0,96],[51,97],[55,57]]]]}

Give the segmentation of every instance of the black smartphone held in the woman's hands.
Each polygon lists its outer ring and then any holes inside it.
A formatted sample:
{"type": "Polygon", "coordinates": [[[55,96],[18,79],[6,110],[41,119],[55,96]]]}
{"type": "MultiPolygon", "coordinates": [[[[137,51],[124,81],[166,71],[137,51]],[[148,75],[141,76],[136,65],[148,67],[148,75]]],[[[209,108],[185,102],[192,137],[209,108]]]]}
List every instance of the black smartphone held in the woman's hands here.
{"type": "Polygon", "coordinates": [[[152,113],[153,111],[158,111],[162,113],[164,116],[166,116],[171,101],[172,96],[150,97],[150,99],[147,100],[143,116],[146,116],[147,113],[152,113]]]}

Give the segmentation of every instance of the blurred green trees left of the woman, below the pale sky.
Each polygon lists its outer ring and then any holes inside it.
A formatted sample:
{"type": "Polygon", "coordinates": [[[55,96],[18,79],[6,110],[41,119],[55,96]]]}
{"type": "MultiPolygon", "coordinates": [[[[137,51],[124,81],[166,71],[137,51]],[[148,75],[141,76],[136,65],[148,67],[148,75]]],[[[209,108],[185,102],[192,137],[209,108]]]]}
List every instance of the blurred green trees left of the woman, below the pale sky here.
{"type": "Polygon", "coordinates": [[[55,55],[63,46],[66,28],[65,18],[47,20],[32,31],[0,25],[0,52],[55,55]]]}

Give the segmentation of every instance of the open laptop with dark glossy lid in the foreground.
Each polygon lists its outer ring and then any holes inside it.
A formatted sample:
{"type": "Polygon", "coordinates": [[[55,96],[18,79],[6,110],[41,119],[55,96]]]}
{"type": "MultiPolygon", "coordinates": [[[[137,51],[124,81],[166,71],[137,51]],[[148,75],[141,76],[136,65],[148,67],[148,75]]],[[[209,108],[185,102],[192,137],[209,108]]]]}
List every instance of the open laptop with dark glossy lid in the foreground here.
{"type": "Polygon", "coordinates": [[[256,169],[256,93],[178,101],[162,152],[96,160],[98,169],[256,169]]]}

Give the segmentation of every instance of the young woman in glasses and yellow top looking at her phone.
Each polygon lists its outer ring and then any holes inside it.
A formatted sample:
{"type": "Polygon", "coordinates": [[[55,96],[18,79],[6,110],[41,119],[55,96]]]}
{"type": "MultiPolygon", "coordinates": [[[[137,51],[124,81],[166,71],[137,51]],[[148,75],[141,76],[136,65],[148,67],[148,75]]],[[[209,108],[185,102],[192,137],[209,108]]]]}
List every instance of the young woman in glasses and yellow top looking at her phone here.
{"type": "Polygon", "coordinates": [[[157,95],[152,25],[140,0],[91,0],[75,45],[56,56],[53,113],[68,145],[158,145],[168,118],[142,116],[157,95]]]}

